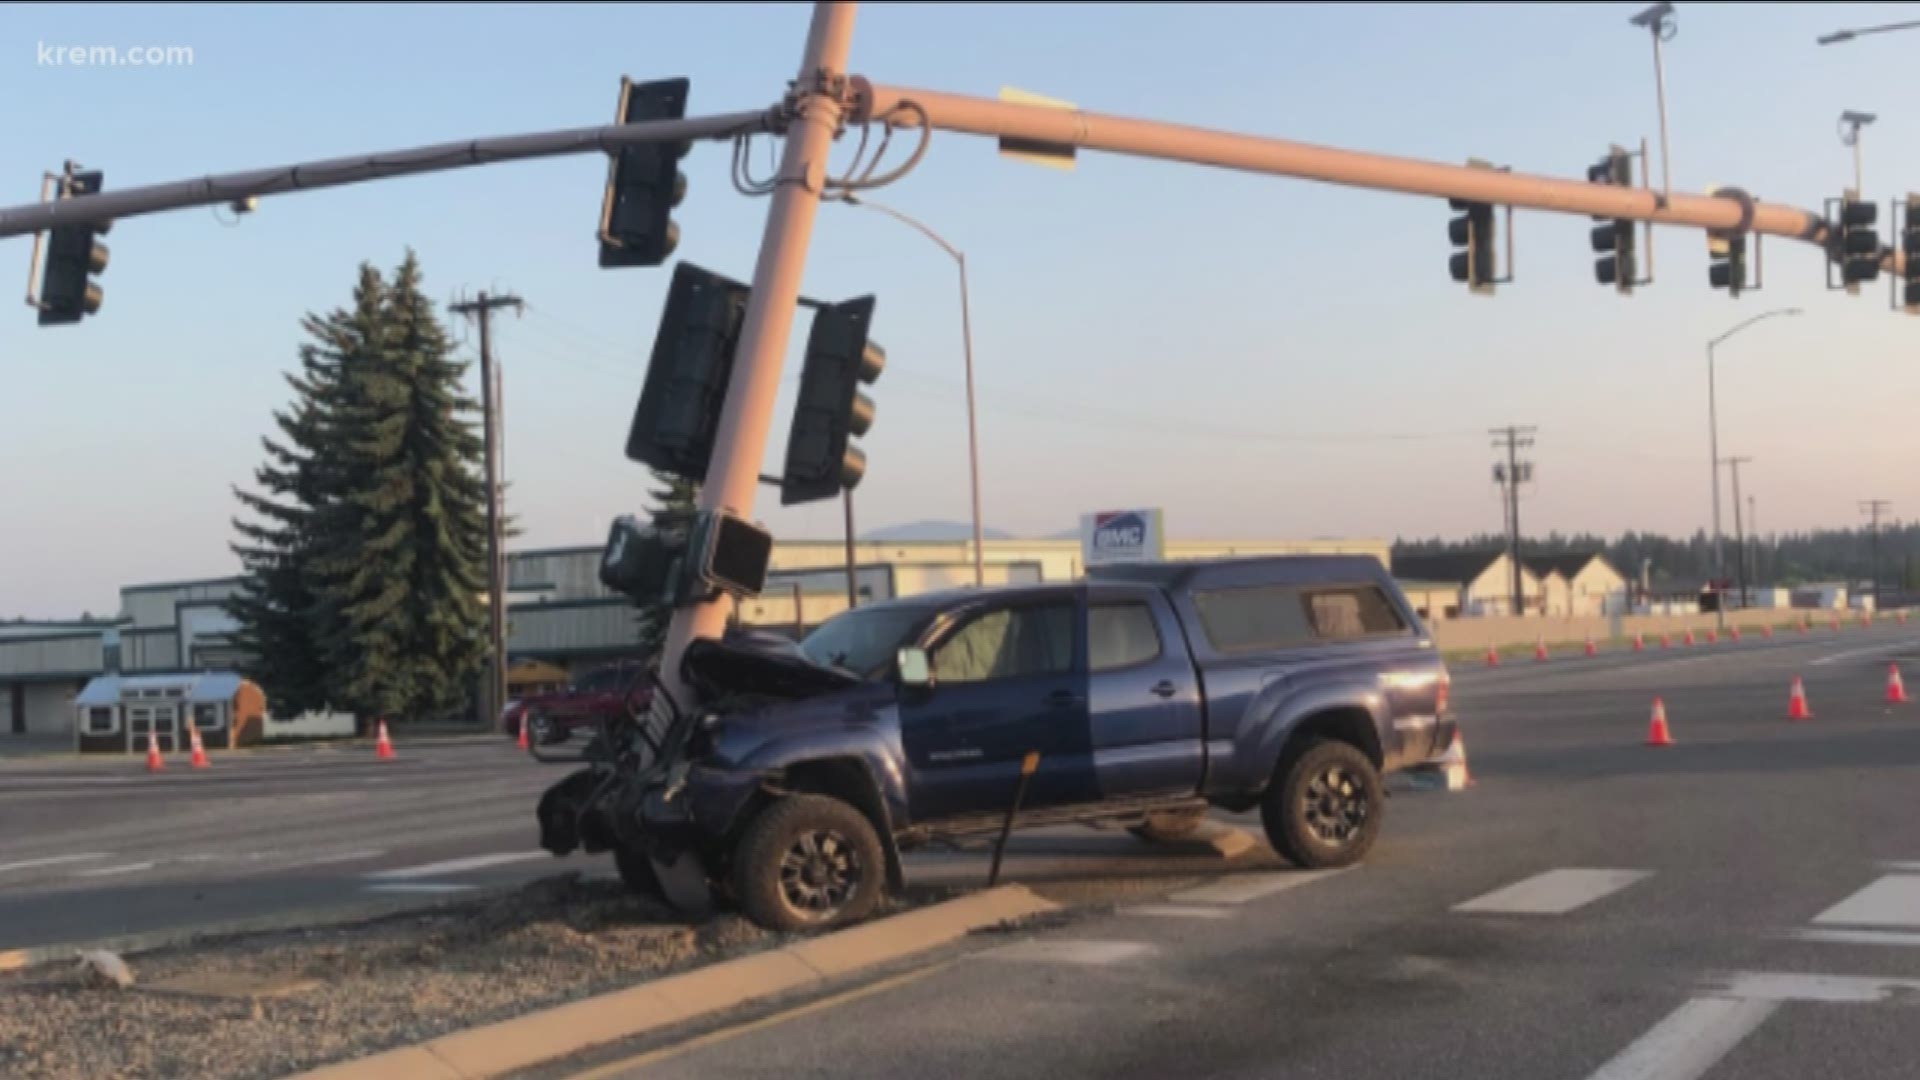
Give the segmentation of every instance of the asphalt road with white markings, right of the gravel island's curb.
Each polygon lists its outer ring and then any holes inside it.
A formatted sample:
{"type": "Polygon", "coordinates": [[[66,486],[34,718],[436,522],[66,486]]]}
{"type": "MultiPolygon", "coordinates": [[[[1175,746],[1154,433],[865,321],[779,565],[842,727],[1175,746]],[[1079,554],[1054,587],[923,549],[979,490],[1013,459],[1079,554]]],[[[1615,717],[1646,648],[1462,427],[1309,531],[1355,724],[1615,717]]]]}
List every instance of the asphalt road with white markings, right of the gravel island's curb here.
{"type": "Polygon", "coordinates": [[[1261,851],[580,1074],[1914,1076],[1920,705],[1882,701],[1889,659],[1920,675],[1920,636],[1463,665],[1476,782],[1396,796],[1363,867],[1261,851]],[[1811,723],[1786,719],[1795,675],[1811,723]],[[1644,746],[1655,696],[1667,749],[1644,746]]]}

